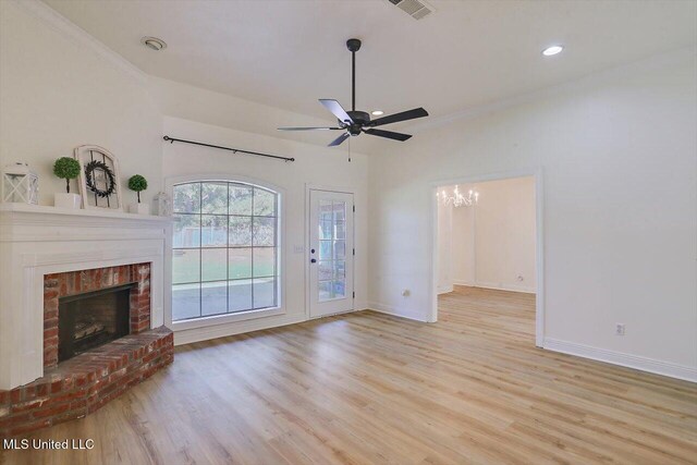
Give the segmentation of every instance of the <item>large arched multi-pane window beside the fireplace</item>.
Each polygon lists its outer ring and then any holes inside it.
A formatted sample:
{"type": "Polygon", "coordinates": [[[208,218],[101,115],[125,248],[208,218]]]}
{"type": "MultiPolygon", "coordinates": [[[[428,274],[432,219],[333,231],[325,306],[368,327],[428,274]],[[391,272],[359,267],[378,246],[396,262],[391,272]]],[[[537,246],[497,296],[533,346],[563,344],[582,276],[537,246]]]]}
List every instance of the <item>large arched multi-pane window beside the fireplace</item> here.
{"type": "Polygon", "coordinates": [[[279,194],[241,182],[173,186],[172,320],[279,306],[279,194]]]}

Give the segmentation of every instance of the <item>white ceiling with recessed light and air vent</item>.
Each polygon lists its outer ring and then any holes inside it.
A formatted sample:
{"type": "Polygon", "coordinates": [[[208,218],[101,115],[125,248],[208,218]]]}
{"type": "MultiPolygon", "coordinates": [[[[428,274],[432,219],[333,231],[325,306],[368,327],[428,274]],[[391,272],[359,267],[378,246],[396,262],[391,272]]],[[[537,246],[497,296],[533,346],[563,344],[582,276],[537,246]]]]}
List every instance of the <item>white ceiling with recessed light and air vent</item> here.
{"type": "Polygon", "coordinates": [[[388,0],[45,1],[148,74],[327,123],[318,98],[351,105],[350,37],[364,42],[358,109],[433,117],[697,42],[693,0],[429,0],[421,21],[388,0]],[[148,50],[145,35],[169,47],[148,50]],[[564,52],[540,54],[558,42],[564,52]]]}

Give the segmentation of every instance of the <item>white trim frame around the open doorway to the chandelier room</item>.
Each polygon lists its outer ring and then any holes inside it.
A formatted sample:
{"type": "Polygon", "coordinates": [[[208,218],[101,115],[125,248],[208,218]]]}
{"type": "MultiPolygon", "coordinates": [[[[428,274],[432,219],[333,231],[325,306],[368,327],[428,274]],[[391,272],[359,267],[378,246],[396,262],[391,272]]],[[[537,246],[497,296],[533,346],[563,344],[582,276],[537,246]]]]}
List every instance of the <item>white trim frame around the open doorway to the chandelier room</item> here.
{"type": "Polygon", "coordinates": [[[431,218],[430,234],[430,274],[431,285],[430,303],[431,308],[429,313],[429,322],[438,321],[438,198],[436,193],[438,187],[453,184],[468,184],[468,183],[484,183],[487,181],[501,181],[514,178],[533,176],[535,179],[535,225],[536,225],[536,241],[535,241],[535,274],[536,274],[536,290],[535,290],[535,345],[542,346],[545,341],[545,189],[543,189],[543,175],[542,168],[528,168],[512,171],[502,171],[488,174],[479,174],[472,176],[462,176],[455,179],[448,179],[441,181],[435,181],[430,183],[428,189],[429,195],[429,208],[431,218]]]}

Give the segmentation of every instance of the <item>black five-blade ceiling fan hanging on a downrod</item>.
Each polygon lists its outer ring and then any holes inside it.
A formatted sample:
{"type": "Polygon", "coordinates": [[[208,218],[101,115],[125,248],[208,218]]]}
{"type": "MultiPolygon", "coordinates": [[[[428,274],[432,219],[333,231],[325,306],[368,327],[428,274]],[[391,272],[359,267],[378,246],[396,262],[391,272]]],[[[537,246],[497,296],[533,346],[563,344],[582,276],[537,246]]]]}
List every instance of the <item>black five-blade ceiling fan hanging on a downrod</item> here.
{"type": "Polygon", "coordinates": [[[351,111],[344,108],[337,100],[320,98],[319,102],[339,120],[337,127],[279,127],[280,131],[343,131],[329,147],[334,147],[346,140],[350,136],[357,136],[366,133],[371,136],[387,137],[393,140],[404,142],[412,137],[411,134],[395,133],[392,131],[376,130],[374,127],[384,124],[398,123],[400,121],[414,120],[416,118],[428,117],[428,112],[423,108],[390,114],[370,121],[370,114],[366,111],[356,111],[356,52],[360,50],[360,40],[348,39],[346,47],[351,52],[351,111]]]}

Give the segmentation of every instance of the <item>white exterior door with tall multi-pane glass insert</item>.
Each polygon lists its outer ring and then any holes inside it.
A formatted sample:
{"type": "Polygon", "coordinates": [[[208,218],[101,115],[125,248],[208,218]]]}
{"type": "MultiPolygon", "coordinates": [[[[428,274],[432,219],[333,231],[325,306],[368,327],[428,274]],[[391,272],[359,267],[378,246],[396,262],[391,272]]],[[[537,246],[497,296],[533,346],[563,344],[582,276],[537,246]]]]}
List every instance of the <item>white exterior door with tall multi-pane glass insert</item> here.
{"type": "Polygon", "coordinates": [[[353,194],[309,191],[309,315],[353,309],[353,194]]]}

